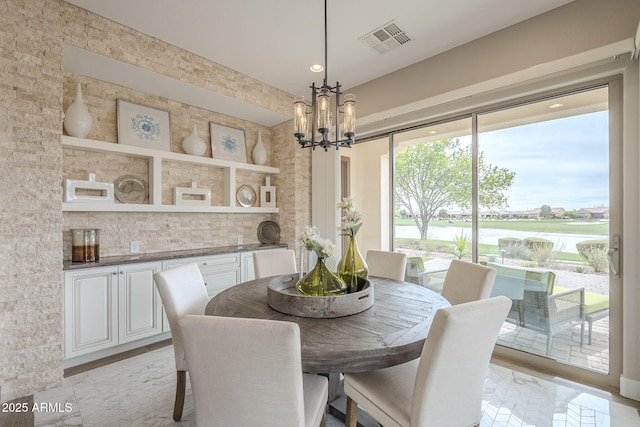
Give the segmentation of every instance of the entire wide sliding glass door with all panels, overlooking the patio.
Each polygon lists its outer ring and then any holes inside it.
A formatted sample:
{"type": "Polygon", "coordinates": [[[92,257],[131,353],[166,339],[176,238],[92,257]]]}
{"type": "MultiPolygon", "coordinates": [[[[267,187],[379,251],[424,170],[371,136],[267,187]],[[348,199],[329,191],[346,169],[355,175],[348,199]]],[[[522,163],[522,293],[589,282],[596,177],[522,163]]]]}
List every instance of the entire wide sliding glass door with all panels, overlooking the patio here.
{"type": "Polygon", "coordinates": [[[492,295],[513,301],[498,340],[508,357],[612,383],[619,85],[478,108],[344,150],[361,249],[407,253],[405,279],[437,292],[452,259],[491,266],[492,295]]]}

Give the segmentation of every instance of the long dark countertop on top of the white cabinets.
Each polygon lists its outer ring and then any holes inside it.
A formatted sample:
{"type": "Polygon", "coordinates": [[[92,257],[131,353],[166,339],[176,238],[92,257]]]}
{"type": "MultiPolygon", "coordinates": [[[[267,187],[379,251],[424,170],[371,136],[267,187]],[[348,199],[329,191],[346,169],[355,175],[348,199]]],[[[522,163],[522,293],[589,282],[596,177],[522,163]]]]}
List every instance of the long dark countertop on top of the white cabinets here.
{"type": "Polygon", "coordinates": [[[166,261],[170,259],[190,258],[197,256],[223,255],[239,252],[259,251],[262,249],[286,248],[285,244],[253,243],[242,246],[218,246],[202,249],[185,249],[181,251],[154,252],[147,254],[131,254],[122,256],[100,257],[96,262],[64,261],[63,270],[78,270],[82,268],[107,267],[120,264],[134,264],[139,262],[166,261]]]}

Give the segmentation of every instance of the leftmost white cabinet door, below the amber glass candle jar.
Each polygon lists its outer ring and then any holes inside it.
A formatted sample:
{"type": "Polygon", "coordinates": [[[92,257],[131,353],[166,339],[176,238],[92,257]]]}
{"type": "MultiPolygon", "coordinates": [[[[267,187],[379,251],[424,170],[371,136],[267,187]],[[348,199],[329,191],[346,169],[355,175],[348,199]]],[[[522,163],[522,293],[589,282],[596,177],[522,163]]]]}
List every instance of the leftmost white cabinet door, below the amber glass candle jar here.
{"type": "Polygon", "coordinates": [[[118,343],[117,271],[101,267],[65,273],[67,359],[118,343]]]}

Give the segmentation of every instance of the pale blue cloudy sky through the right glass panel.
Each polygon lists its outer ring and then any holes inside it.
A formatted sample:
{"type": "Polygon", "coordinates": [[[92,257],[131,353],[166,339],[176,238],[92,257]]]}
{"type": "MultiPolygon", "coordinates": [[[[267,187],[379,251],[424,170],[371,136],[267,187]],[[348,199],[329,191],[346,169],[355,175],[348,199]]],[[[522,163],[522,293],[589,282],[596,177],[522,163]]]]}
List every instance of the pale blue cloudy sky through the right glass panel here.
{"type": "Polygon", "coordinates": [[[487,163],[515,172],[507,210],[609,206],[608,112],[481,133],[487,163]]]}

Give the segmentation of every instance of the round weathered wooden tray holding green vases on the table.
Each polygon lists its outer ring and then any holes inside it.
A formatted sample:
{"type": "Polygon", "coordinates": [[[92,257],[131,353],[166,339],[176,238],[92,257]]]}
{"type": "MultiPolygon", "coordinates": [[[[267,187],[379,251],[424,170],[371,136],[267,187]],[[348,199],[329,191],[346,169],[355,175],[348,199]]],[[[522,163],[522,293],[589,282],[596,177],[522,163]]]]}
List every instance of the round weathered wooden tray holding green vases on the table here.
{"type": "Polygon", "coordinates": [[[373,283],[368,280],[352,294],[311,297],[298,293],[298,279],[298,274],[290,274],[271,280],[267,285],[269,306],[298,317],[333,318],[360,313],[373,305],[373,283]]]}

